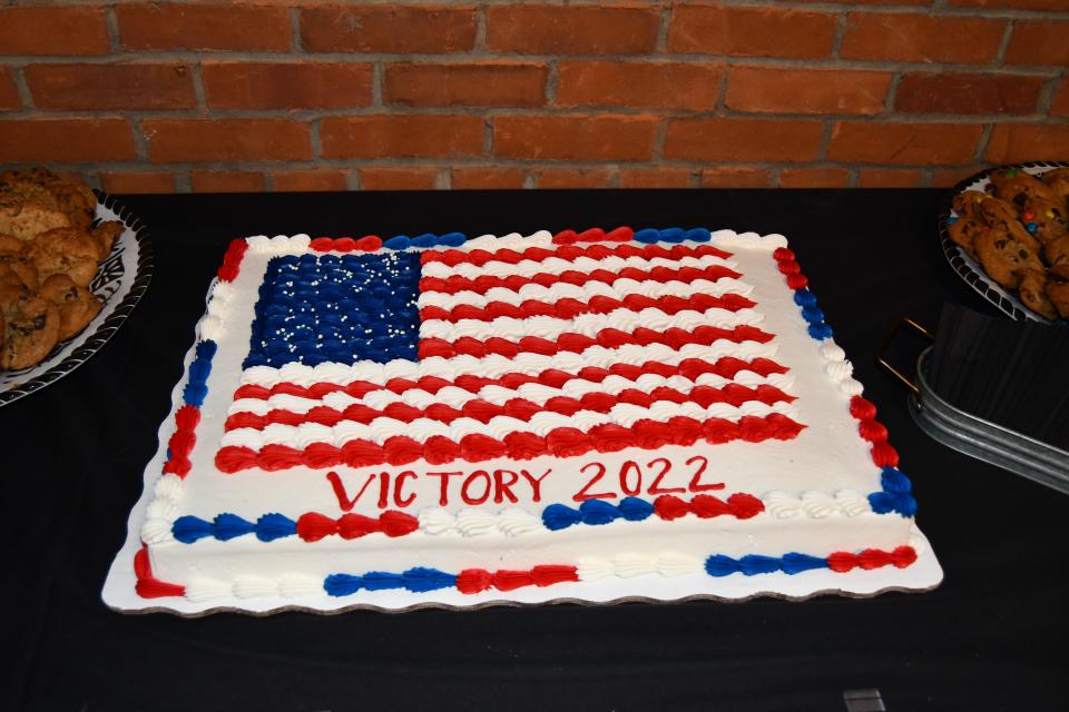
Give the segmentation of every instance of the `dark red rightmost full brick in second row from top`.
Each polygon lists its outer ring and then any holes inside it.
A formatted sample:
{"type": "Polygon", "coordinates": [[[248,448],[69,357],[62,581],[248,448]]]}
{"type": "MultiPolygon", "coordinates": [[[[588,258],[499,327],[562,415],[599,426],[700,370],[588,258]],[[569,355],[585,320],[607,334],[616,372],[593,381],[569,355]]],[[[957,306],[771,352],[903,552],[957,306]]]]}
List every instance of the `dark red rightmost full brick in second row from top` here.
{"type": "Polygon", "coordinates": [[[905,75],[894,108],[931,113],[1031,113],[1046,81],[1011,75],[905,75]]]}

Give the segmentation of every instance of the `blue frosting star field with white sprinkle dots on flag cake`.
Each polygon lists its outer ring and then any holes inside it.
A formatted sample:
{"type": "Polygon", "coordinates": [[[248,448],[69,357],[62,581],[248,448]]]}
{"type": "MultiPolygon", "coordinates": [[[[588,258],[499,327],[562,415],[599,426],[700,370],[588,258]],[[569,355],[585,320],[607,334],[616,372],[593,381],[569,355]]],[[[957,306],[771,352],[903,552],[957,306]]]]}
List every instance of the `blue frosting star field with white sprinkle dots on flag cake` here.
{"type": "Polygon", "coordinates": [[[420,255],[275,257],[244,367],[416,359],[420,255]]]}

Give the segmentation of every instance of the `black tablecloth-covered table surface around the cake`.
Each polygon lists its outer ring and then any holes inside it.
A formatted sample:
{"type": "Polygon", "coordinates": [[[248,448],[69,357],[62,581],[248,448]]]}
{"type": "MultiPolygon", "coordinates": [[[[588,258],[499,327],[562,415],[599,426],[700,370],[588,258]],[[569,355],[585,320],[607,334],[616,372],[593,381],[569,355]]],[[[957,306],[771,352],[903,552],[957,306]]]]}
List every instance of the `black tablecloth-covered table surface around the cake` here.
{"type": "Polygon", "coordinates": [[[107,346],[0,408],[6,709],[1066,709],[1069,498],[950,451],[874,364],[903,315],[993,313],[943,260],[939,190],[141,196],[153,284],[107,346]],[[945,570],[926,594],[335,616],[120,615],[108,566],[226,244],[594,225],[782,233],[903,455],[945,570]]]}

